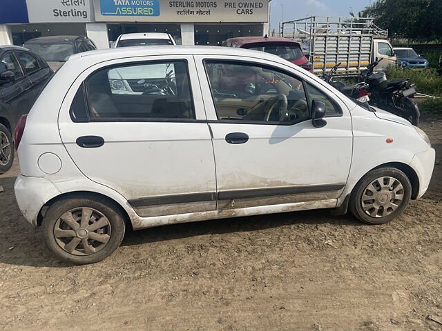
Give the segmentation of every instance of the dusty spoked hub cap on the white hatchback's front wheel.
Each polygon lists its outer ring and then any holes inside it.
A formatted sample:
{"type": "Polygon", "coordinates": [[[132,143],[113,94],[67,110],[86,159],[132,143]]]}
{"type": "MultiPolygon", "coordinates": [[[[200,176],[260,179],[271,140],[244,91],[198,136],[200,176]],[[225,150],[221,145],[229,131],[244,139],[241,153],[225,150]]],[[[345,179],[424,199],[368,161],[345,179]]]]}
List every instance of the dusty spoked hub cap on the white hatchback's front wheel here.
{"type": "Polygon", "coordinates": [[[398,179],[380,177],[367,185],[361,197],[361,205],[371,217],[386,217],[401,205],[403,193],[403,185],[398,179]]]}

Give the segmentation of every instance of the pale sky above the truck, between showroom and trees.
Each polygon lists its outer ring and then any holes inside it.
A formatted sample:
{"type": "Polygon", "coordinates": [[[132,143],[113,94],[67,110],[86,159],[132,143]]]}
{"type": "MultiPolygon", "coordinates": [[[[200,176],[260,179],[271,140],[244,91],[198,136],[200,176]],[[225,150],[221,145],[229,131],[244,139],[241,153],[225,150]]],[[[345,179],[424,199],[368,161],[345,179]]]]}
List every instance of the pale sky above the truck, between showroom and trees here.
{"type": "Polygon", "coordinates": [[[278,24],[282,21],[282,14],[284,14],[284,21],[310,16],[347,17],[350,10],[357,14],[372,2],[373,0],[272,0],[271,30],[278,30],[278,24]],[[284,8],[284,12],[282,12],[282,8],[284,8]]]}

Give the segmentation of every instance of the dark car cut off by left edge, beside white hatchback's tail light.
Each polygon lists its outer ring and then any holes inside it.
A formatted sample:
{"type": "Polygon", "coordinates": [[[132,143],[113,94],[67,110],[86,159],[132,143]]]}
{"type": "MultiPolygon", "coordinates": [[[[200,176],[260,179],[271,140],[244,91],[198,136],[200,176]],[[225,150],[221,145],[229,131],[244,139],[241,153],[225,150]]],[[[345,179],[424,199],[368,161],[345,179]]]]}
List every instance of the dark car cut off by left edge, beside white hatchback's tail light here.
{"type": "Polygon", "coordinates": [[[18,46],[0,46],[0,174],[14,161],[12,132],[28,114],[46,81],[52,77],[48,63],[18,46]]]}

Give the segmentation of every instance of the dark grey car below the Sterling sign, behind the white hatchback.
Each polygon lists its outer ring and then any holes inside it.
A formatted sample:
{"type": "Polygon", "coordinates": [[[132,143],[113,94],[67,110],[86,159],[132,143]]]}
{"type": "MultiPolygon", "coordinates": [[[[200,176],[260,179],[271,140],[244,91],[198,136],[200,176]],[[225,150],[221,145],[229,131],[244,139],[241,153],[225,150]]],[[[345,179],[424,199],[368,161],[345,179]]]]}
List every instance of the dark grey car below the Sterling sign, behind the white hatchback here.
{"type": "Polygon", "coordinates": [[[24,47],[39,54],[54,71],[59,70],[72,54],[97,49],[95,43],[84,36],[39,37],[26,41],[24,47]]]}

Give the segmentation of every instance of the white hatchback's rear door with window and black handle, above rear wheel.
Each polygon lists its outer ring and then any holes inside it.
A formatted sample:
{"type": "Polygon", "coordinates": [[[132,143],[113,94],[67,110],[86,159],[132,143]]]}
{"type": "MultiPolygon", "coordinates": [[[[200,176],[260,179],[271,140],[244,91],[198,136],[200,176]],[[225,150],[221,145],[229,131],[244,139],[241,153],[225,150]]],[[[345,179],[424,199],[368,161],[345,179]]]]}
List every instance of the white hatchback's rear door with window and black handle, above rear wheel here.
{"type": "Polygon", "coordinates": [[[59,117],[79,170],[142,217],[215,210],[211,134],[193,57],[99,66],[75,81],[59,117]]]}

